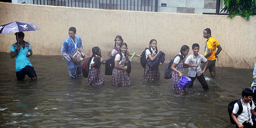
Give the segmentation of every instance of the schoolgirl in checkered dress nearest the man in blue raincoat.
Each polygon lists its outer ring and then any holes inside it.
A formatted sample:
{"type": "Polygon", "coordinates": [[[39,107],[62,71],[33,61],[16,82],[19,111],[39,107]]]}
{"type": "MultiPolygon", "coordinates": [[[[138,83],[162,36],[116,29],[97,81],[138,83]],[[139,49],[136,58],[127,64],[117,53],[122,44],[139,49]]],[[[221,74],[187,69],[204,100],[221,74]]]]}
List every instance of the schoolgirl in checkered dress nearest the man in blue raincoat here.
{"type": "Polygon", "coordinates": [[[88,74],[88,85],[100,86],[104,83],[104,78],[100,72],[100,65],[105,64],[105,61],[102,61],[101,50],[99,47],[92,48],[92,60],[90,62],[90,71],[88,74]]]}

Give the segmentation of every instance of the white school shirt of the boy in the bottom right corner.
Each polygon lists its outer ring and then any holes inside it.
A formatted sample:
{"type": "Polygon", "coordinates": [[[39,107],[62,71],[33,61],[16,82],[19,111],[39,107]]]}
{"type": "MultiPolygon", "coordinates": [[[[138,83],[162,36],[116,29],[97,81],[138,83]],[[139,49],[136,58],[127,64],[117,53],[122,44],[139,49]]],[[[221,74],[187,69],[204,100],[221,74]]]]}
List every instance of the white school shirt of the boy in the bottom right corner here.
{"type": "MultiPolygon", "coordinates": [[[[253,102],[253,100],[251,102],[253,102]]],[[[254,103],[252,104],[252,107],[250,106],[249,102],[247,103],[247,105],[242,104],[242,106],[243,106],[243,111],[240,115],[237,116],[237,120],[239,121],[239,123],[244,123],[244,121],[249,121],[253,125],[251,110],[253,110],[255,108],[254,103]],[[250,117],[249,117],[248,112],[247,112],[247,107],[248,107],[249,112],[250,112],[250,117]]],[[[239,106],[238,106],[237,103],[235,103],[234,104],[234,109],[233,109],[232,112],[234,114],[237,114],[238,110],[239,110],[239,106]]]]}

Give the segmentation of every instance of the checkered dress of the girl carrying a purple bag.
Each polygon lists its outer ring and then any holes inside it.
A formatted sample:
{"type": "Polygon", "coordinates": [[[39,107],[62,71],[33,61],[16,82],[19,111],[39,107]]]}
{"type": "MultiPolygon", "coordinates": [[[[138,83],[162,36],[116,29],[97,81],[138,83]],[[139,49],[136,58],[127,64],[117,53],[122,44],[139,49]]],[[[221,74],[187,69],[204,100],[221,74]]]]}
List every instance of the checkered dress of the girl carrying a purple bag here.
{"type": "MultiPolygon", "coordinates": [[[[180,63],[176,68],[182,74],[183,74],[183,62],[184,60],[180,61],[180,63]]],[[[176,92],[178,94],[185,93],[186,92],[185,88],[178,87],[179,80],[180,80],[179,74],[173,71],[173,73],[171,74],[171,81],[173,83],[173,92],[176,92]]]]}

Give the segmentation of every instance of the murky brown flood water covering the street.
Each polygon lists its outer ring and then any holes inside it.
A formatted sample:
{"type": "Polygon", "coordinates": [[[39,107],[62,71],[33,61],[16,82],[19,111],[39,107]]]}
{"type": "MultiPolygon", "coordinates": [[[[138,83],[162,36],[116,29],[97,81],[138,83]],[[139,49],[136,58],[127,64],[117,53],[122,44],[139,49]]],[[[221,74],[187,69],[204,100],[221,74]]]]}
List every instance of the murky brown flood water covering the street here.
{"type": "MultiPolygon", "coordinates": [[[[4,128],[224,128],[230,125],[227,104],[239,99],[253,81],[253,69],[216,67],[218,78],[210,78],[208,70],[204,73],[209,92],[196,80],[180,96],[173,92],[171,80],[164,79],[166,63],[159,67],[159,81],[144,82],[144,69],[133,62],[131,86],[112,86],[102,65],[105,84],[94,87],[88,78],[69,78],[62,55],[32,55],[38,80],[26,76],[17,81],[15,58],[0,54],[0,127],[4,128]]],[[[188,69],[184,73],[188,76],[188,69]]]]}

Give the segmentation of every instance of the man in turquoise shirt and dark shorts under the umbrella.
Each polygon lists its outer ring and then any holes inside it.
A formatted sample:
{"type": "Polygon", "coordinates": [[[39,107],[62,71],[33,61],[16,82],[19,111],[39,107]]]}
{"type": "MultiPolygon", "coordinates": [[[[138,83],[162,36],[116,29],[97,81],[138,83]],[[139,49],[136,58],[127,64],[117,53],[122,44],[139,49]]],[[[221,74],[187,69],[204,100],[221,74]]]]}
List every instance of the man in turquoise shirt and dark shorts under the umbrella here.
{"type": "Polygon", "coordinates": [[[25,75],[28,75],[32,80],[37,80],[34,67],[29,62],[29,56],[33,54],[28,42],[24,41],[24,33],[15,33],[17,42],[11,46],[10,56],[15,57],[16,61],[16,76],[18,80],[24,80],[25,75]]]}

